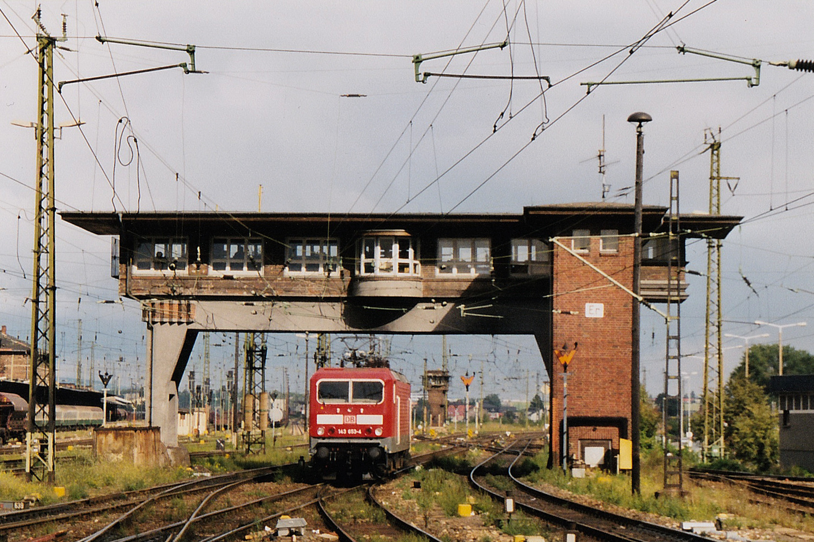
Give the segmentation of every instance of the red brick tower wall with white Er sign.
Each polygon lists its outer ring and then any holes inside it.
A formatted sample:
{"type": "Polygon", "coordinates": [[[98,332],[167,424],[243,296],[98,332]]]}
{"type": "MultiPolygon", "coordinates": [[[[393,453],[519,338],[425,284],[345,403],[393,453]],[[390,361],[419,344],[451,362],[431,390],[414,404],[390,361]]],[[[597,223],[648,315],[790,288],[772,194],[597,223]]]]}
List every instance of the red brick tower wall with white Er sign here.
{"type": "MultiPolygon", "coordinates": [[[[632,288],[632,237],[620,237],[615,254],[600,254],[599,238],[592,238],[589,252],[580,255],[626,288],[632,288]]],[[[568,366],[567,413],[569,418],[579,417],[584,426],[569,430],[568,453],[579,457],[580,439],[609,439],[613,448],[619,449],[619,418],[626,427],[624,436],[629,438],[630,431],[632,297],[557,245],[553,265],[553,348],[565,344],[571,349],[575,342],[579,343],[568,366]],[[602,318],[586,317],[586,303],[601,303],[602,318]],[[596,418],[597,423],[591,423],[591,418],[596,418]],[[608,418],[617,422],[610,423],[608,418]]],[[[554,358],[551,449],[555,462],[561,463],[562,365],[553,352],[548,355],[554,358]]]]}

